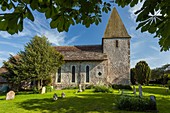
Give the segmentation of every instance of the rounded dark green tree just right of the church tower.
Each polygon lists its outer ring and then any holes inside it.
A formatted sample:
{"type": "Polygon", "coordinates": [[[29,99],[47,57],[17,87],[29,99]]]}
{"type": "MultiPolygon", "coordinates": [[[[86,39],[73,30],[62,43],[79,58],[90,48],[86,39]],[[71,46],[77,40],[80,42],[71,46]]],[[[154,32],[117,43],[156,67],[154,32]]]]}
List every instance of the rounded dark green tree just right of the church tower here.
{"type": "Polygon", "coordinates": [[[140,61],[135,66],[136,80],[140,84],[149,84],[151,70],[145,61],[140,61]]]}

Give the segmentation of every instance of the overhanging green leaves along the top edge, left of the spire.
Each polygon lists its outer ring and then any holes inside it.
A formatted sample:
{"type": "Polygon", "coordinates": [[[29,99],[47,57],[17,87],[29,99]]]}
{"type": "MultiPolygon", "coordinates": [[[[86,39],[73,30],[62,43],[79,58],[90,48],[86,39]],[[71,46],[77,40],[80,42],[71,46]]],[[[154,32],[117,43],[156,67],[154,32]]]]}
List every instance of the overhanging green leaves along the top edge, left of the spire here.
{"type": "Polygon", "coordinates": [[[68,31],[70,25],[79,23],[86,27],[93,23],[98,25],[101,13],[111,10],[110,4],[102,0],[1,0],[0,6],[3,11],[11,10],[0,15],[0,30],[10,34],[23,30],[25,18],[34,21],[34,10],[50,18],[51,28],[59,32],[68,31]]]}

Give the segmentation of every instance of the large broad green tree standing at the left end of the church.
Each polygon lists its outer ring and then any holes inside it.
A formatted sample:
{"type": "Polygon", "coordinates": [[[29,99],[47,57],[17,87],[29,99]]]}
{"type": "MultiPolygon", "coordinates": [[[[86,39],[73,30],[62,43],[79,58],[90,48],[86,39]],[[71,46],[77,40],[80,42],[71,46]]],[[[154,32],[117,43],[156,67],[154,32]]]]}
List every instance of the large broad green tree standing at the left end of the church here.
{"type": "Polygon", "coordinates": [[[38,81],[37,88],[43,85],[43,80],[49,79],[56,70],[64,63],[63,56],[51,46],[46,37],[35,36],[27,45],[25,50],[18,53],[16,60],[11,57],[5,62],[5,67],[9,70],[10,76],[17,83],[24,79],[38,81]],[[13,79],[14,78],[14,79],[13,79]]]}

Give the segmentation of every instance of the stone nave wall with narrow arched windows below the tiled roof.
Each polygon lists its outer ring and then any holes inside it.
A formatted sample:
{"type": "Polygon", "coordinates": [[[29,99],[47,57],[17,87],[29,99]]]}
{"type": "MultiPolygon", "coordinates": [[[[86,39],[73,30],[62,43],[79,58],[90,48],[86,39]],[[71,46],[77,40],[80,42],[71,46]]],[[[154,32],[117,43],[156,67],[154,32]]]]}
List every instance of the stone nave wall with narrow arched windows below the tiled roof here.
{"type": "Polygon", "coordinates": [[[107,60],[106,61],[67,61],[61,67],[61,82],[58,83],[56,73],[55,86],[57,88],[77,86],[81,84],[106,84],[107,60]],[[72,66],[75,66],[75,82],[72,82],[72,66]],[[86,66],[89,66],[89,82],[86,82],[86,66]]]}

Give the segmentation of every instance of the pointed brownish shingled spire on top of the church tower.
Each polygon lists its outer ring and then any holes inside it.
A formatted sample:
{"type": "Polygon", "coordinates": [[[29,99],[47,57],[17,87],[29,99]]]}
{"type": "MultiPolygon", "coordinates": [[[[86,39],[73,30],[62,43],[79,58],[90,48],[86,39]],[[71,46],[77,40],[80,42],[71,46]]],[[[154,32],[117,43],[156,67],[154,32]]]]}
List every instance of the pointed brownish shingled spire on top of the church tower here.
{"type": "Polygon", "coordinates": [[[130,38],[116,10],[113,8],[103,38],[130,38]]]}

